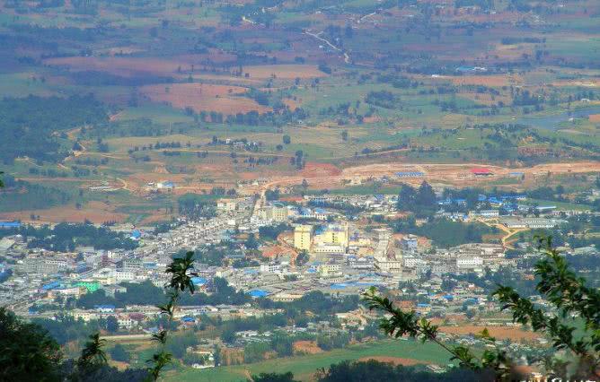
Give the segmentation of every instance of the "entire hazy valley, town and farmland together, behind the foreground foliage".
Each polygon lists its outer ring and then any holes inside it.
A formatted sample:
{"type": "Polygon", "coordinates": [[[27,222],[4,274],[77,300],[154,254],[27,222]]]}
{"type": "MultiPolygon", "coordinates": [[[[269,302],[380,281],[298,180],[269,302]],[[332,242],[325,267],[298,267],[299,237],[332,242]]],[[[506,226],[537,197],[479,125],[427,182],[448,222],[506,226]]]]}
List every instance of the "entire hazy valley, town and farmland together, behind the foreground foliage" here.
{"type": "Polygon", "coordinates": [[[0,306],[114,380],[169,325],[165,380],[460,378],[369,287],[549,375],[490,295],[539,235],[598,286],[599,158],[596,0],[0,0],[0,306]]]}

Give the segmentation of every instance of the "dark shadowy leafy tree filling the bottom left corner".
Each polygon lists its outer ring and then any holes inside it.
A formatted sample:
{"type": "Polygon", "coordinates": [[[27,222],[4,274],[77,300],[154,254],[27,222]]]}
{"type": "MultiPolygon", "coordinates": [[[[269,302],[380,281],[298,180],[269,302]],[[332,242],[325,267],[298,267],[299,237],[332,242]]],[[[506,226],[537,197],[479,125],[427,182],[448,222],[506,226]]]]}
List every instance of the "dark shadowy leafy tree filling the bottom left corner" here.
{"type": "Polygon", "coordinates": [[[61,359],[58,343],[45,329],[0,308],[0,380],[59,381],[61,359]]]}

